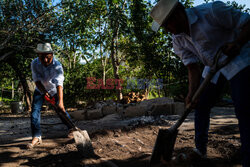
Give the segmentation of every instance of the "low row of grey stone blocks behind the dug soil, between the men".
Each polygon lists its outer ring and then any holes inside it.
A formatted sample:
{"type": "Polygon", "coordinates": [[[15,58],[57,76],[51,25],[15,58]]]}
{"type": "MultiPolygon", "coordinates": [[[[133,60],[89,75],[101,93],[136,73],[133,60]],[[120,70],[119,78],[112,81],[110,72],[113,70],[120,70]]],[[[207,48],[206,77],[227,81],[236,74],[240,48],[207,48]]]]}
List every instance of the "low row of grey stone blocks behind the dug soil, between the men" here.
{"type": "Polygon", "coordinates": [[[110,114],[119,114],[123,118],[156,115],[181,115],[184,103],[174,102],[167,97],[145,100],[139,103],[121,104],[112,100],[97,102],[85,110],[70,112],[75,120],[100,119],[110,114]]]}

